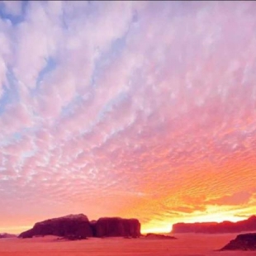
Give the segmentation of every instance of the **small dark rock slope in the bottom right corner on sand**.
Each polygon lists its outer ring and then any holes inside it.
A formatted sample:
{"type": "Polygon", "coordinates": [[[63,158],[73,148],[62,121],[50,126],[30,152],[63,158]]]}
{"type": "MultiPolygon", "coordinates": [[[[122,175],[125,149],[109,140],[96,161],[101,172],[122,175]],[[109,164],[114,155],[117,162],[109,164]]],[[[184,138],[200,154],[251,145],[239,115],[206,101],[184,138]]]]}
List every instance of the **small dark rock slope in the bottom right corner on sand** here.
{"type": "Polygon", "coordinates": [[[256,250],[256,233],[238,235],[220,250],[256,250]]]}

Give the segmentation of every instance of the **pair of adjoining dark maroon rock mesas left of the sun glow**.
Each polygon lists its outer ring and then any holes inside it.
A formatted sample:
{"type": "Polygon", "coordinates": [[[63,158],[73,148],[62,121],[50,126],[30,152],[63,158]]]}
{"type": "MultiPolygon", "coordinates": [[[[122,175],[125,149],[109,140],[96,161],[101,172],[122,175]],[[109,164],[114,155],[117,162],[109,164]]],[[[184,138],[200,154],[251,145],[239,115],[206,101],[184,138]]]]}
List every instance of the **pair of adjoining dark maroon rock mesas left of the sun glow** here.
{"type": "Polygon", "coordinates": [[[68,239],[86,239],[92,236],[139,237],[140,222],[119,217],[89,221],[83,214],[70,215],[37,222],[31,230],[26,230],[19,237],[31,238],[36,235],[57,235],[68,239]]]}

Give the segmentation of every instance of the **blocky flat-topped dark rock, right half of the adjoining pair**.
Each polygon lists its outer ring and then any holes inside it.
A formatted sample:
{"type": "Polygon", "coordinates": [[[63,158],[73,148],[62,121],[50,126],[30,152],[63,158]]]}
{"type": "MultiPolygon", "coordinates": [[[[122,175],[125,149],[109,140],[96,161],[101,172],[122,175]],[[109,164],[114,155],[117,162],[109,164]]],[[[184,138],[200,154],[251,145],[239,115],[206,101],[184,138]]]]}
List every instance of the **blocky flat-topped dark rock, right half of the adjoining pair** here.
{"type": "Polygon", "coordinates": [[[92,224],[96,237],[130,236],[140,237],[140,222],[136,219],[122,219],[119,217],[100,218],[92,224]]]}

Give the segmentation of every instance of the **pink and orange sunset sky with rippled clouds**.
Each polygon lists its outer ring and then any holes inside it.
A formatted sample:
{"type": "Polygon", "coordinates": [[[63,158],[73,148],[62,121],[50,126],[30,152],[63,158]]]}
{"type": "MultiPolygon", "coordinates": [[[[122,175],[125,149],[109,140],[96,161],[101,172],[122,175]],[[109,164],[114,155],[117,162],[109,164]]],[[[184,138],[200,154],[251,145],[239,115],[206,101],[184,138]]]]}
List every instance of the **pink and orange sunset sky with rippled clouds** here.
{"type": "Polygon", "coordinates": [[[0,2],[0,232],[256,213],[256,2],[0,2]]]}

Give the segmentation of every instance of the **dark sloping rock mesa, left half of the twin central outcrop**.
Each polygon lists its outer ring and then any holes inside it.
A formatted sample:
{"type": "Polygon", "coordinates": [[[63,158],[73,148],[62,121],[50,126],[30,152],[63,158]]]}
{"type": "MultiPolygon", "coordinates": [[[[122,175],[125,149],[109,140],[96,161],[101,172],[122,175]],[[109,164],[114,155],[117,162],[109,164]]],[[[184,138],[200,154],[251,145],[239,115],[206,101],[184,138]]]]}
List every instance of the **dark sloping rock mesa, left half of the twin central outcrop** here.
{"type": "Polygon", "coordinates": [[[92,236],[92,228],[87,216],[83,214],[69,215],[37,222],[31,230],[21,233],[18,237],[31,238],[36,235],[57,235],[85,239],[92,236]]]}

